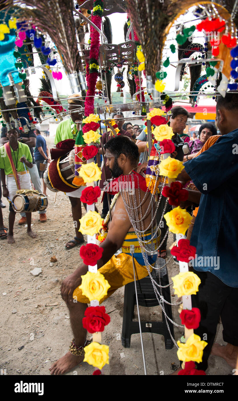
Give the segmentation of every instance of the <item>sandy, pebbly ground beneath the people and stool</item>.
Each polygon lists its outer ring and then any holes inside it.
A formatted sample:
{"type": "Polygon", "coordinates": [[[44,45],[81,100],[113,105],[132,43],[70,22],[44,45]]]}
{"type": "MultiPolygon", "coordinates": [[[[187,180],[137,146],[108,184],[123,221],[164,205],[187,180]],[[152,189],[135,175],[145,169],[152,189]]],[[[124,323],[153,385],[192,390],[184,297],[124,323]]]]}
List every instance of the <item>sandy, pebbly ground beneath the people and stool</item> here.
{"type": "MultiPolygon", "coordinates": [[[[30,239],[26,228],[18,226],[20,215],[16,215],[14,237],[10,245],[0,241],[0,369],[7,375],[49,375],[53,361],[63,356],[73,338],[69,312],[60,296],[61,282],[81,262],[79,247],[65,249],[65,243],[74,237],[73,219],[69,199],[58,192],[49,196],[47,222],[38,221],[38,213],[32,213],[32,229],[38,237],[30,239]],[[44,231],[44,232],[43,232],[44,231]],[[57,262],[50,266],[50,257],[57,262]],[[33,277],[30,271],[41,267],[42,273],[33,277]],[[5,295],[6,294],[6,295],[5,295]],[[15,313],[13,313],[15,312],[15,313]],[[19,350],[19,348],[22,349],[19,350]]],[[[6,204],[6,199],[4,199],[6,204]]],[[[99,211],[101,203],[97,204],[99,211]]],[[[4,224],[8,227],[8,207],[2,209],[4,224]]],[[[86,238],[85,238],[86,239],[86,238]]],[[[167,248],[173,242],[169,234],[167,248]]],[[[178,273],[178,266],[167,264],[169,281],[178,273]]],[[[171,294],[173,294],[173,288],[171,294]]],[[[177,296],[171,297],[175,304],[177,296]]],[[[111,317],[110,324],[102,333],[103,344],[109,345],[109,365],[105,375],[143,375],[143,360],[139,334],[131,336],[131,347],[121,345],[124,289],[117,290],[104,305],[111,317]]],[[[135,307],[136,310],[136,307],[135,307]]],[[[173,320],[180,324],[178,306],[173,306],[173,320]]],[[[161,320],[159,306],[140,307],[141,320],[161,320]]],[[[137,313],[135,313],[135,320],[137,313]]],[[[175,340],[183,334],[182,328],[174,327],[175,340]]],[[[90,337],[90,335],[89,335],[90,337]]],[[[218,324],[216,341],[222,339],[222,324],[218,324]]],[[[178,366],[176,347],[165,350],[163,336],[144,333],[145,360],[148,375],[169,375],[178,366]]],[[[81,363],[67,375],[91,375],[93,367],[81,363]]],[[[210,356],[208,375],[232,375],[232,368],[219,357],[210,356]]]]}

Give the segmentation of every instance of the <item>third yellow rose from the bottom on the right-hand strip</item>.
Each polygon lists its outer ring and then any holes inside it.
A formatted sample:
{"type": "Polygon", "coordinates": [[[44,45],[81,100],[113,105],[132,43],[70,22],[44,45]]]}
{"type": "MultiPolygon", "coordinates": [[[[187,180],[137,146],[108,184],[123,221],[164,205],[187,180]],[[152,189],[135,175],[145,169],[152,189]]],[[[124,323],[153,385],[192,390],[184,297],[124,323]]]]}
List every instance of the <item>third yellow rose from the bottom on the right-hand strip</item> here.
{"type": "Polygon", "coordinates": [[[165,213],[164,218],[171,233],[183,235],[185,235],[192,220],[192,216],[185,209],[181,209],[180,206],[165,213]]]}

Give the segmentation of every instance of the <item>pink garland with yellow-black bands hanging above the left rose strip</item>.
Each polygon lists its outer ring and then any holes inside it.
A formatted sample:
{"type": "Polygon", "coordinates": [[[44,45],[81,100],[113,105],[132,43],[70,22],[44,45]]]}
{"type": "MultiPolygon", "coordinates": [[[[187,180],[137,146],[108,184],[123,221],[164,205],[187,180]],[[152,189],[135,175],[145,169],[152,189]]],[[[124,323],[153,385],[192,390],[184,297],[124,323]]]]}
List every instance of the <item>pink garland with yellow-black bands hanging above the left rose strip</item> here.
{"type": "MultiPolygon", "coordinates": [[[[91,17],[91,21],[101,29],[102,22],[102,14],[103,14],[103,2],[101,0],[95,0],[93,2],[93,13],[91,17]]],[[[86,80],[88,85],[88,90],[85,98],[85,115],[89,116],[94,111],[94,97],[95,97],[95,87],[97,83],[98,77],[98,57],[99,57],[99,41],[100,34],[97,32],[93,26],[90,26],[90,38],[91,38],[91,47],[89,51],[89,65],[86,65],[86,80]]]]}

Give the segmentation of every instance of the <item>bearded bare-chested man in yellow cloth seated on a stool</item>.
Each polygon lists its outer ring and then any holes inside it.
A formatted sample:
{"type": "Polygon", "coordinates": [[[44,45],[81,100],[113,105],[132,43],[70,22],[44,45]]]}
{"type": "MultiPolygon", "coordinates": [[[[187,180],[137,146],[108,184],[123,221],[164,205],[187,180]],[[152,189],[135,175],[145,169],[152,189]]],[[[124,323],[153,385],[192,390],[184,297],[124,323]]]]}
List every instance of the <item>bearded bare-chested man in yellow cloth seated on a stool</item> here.
{"type": "MultiPolygon", "coordinates": [[[[111,170],[112,176],[119,177],[122,175],[134,174],[135,196],[137,197],[137,202],[139,199],[139,191],[141,199],[143,199],[145,192],[141,189],[141,184],[139,185],[140,189],[137,189],[137,178],[136,174],[133,173],[133,169],[137,168],[137,160],[139,158],[137,146],[129,138],[125,136],[117,136],[105,144],[105,150],[107,166],[111,170]]],[[[140,179],[143,180],[141,176],[140,179]]],[[[145,188],[146,186],[143,186],[143,189],[145,188]]],[[[133,196],[131,196],[131,199],[133,199],[133,196]]],[[[149,227],[151,223],[151,207],[148,207],[150,200],[151,194],[148,193],[147,196],[145,196],[145,201],[142,206],[142,213],[145,215],[143,221],[144,229],[149,227]],[[149,210],[146,213],[147,209],[149,210]]],[[[100,245],[100,247],[103,248],[103,255],[97,263],[99,271],[104,275],[105,279],[111,286],[107,292],[107,296],[103,298],[103,300],[113,294],[117,288],[120,288],[129,282],[133,282],[134,280],[132,257],[130,255],[130,250],[128,251],[130,247],[130,237],[133,237],[133,244],[138,246],[139,243],[134,242],[137,241],[137,238],[133,235],[134,229],[125,209],[121,194],[118,196],[112,210],[112,221],[108,227],[109,230],[107,237],[100,245]],[[122,253],[116,257],[114,254],[120,248],[122,249],[122,253]],[[121,259],[123,260],[123,263],[117,263],[117,261],[120,260],[120,255],[123,255],[123,258],[121,259]]],[[[150,238],[151,232],[148,230],[145,233],[145,239],[148,240],[150,238]]],[[[148,257],[149,263],[153,265],[157,258],[157,254],[152,256],[149,255],[148,257]]],[[[145,263],[140,251],[134,253],[134,261],[137,279],[146,277],[148,271],[144,266],[145,263]]],[[[79,347],[84,346],[86,340],[87,332],[82,326],[82,319],[87,304],[89,304],[89,300],[82,295],[78,286],[81,284],[81,276],[85,275],[87,271],[88,266],[82,263],[71,275],[66,277],[61,285],[61,296],[69,308],[75,345],[79,347]],[[77,302],[73,302],[73,295],[74,297],[77,297],[77,302]]],[[[67,352],[65,356],[53,363],[49,368],[50,373],[52,375],[62,375],[81,363],[83,359],[84,356],[75,356],[71,354],[71,352],[67,352]]]]}

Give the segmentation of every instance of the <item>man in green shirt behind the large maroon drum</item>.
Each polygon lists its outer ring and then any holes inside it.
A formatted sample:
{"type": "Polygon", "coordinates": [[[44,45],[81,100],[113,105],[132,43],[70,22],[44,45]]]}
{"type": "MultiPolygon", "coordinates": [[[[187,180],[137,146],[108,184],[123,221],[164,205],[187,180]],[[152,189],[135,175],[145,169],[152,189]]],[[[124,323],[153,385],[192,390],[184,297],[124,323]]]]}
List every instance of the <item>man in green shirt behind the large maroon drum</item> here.
{"type": "MultiPolygon", "coordinates": [[[[73,93],[73,95],[69,96],[68,100],[68,109],[70,113],[70,119],[65,119],[62,121],[56,130],[56,135],[54,138],[54,144],[58,144],[58,142],[64,141],[66,139],[76,139],[79,133],[77,128],[77,122],[82,122],[84,115],[84,102],[82,100],[80,93],[73,93]],[[77,110],[77,111],[74,111],[77,110]],[[79,111],[80,110],[80,111],[79,111]]],[[[79,222],[79,219],[82,217],[82,209],[81,209],[81,193],[85,187],[77,188],[72,192],[66,192],[66,195],[69,196],[69,200],[71,202],[73,221],[79,222]]],[[[87,205],[84,205],[85,209],[87,205]]],[[[69,242],[65,244],[66,249],[71,249],[77,245],[81,245],[84,243],[83,234],[79,232],[79,224],[75,225],[75,237],[71,239],[69,242]]]]}

